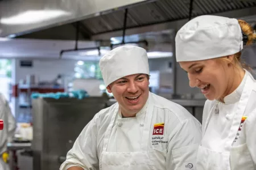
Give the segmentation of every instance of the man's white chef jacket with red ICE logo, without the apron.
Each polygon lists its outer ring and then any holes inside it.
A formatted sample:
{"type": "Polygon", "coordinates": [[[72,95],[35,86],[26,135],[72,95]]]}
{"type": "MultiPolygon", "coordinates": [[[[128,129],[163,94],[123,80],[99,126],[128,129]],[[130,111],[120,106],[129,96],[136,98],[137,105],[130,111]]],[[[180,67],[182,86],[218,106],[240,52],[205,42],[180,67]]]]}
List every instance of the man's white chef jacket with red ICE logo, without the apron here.
{"type": "Polygon", "coordinates": [[[144,144],[141,138],[148,116],[147,107],[153,109],[150,133],[147,134],[147,153],[153,169],[195,169],[197,148],[201,142],[200,122],[180,105],[151,93],[135,117],[122,118],[118,114],[118,103],[97,113],[76,139],[60,169],[73,166],[101,169],[104,137],[113,115],[115,120],[106,151],[139,151],[144,144]],[[157,131],[154,125],[161,123],[164,123],[163,131],[157,131]],[[162,134],[158,135],[159,132],[162,134]]]}

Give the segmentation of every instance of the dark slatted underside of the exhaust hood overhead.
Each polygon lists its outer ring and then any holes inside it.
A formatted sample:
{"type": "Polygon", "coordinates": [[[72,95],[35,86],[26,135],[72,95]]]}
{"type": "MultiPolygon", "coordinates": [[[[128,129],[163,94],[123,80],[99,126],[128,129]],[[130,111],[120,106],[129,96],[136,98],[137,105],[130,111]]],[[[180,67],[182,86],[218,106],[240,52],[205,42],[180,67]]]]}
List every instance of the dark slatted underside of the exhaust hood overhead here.
{"type": "MultiPolygon", "coordinates": [[[[145,1],[146,2],[146,1],[145,1]]],[[[255,0],[159,0],[147,3],[141,3],[136,6],[127,7],[126,28],[142,28],[161,23],[189,18],[189,9],[192,3],[191,16],[216,14],[222,15],[228,12],[236,14],[233,17],[251,17],[251,24],[256,22],[256,1],[255,0]]],[[[123,20],[125,10],[113,10],[99,16],[93,16],[80,20],[80,39],[81,40],[100,40],[100,35],[112,32],[118,32],[122,36],[123,20]],[[97,37],[97,38],[95,38],[97,37]]],[[[230,13],[231,14],[231,13],[230,13]]],[[[232,14],[229,16],[232,17],[232,14]]],[[[22,38],[33,39],[75,39],[76,25],[75,22],[59,25],[21,35],[22,38]]],[[[102,37],[104,39],[104,37],[102,37]]]]}

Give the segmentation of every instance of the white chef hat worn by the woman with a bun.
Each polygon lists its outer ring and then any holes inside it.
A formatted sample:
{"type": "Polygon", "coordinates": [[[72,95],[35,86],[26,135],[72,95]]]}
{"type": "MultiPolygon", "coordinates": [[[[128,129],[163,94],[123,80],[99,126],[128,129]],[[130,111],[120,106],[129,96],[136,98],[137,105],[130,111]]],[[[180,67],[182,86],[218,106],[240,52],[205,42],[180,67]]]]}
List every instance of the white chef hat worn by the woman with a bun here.
{"type": "Polygon", "coordinates": [[[224,57],[242,50],[242,30],[237,19],[202,15],[180,28],[175,44],[177,62],[224,57]]]}

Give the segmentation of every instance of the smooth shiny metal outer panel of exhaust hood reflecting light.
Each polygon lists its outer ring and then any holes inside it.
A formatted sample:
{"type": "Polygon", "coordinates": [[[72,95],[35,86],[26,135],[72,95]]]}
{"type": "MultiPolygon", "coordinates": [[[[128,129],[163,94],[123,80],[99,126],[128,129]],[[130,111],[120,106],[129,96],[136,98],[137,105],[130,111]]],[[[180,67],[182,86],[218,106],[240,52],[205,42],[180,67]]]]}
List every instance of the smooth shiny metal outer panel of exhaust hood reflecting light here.
{"type": "Polygon", "coordinates": [[[15,37],[54,25],[102,15],[146,0],[2,0],[0,37],[15,37]]]}

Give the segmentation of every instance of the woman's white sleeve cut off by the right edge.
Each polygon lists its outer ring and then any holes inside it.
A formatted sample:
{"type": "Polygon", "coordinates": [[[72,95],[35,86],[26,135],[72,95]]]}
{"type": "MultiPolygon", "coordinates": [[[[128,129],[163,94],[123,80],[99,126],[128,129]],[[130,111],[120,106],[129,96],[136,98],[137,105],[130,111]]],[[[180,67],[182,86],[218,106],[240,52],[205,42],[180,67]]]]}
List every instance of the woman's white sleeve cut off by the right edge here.
{"type": "Polygon", "coordinates": [[[256,164],[256,109],[251,117],[247,118],[246,143],[254,164],[256,164]]]}

